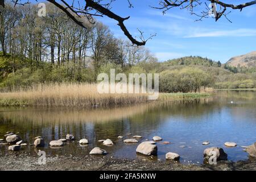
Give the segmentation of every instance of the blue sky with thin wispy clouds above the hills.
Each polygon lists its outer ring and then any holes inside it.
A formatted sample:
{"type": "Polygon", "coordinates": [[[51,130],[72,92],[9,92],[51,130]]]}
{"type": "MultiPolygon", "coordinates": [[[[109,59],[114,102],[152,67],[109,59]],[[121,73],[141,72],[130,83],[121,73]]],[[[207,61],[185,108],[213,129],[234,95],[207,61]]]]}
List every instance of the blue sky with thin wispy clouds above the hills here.
{"type": "MultiPolygon", "coordinates": [[[[163,15],[161,10],[150,7],[157,6],[157,0],[131,2],[134,5],[132,9],[126,0],[117,0],[112,11],[123,17],[131,16],[125,24],[134,36],[139,35],[137,28],[144,32],[145,37],[157,34],[147,42],[146,47],[159,61],[198,55],[225,63],[233,56],[256,51],[256,5],[242,12],[233,10],[228,16],[233,22],[230,23],[225,17],[218,22],[212,18],[195,22],[196,16],[180,9],[171,9],[163,15]]],[[[115,20],[108,17],[99,20],[108,25],[115,36],[125,37],[115,20]]]]}

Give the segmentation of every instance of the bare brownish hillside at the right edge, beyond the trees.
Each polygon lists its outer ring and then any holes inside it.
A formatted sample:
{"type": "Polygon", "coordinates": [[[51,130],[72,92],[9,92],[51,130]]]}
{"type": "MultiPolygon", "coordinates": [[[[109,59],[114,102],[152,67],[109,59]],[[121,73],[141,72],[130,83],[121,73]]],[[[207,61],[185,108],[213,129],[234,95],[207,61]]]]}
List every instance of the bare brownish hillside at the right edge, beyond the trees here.
{"type": "Polygon", "coordinates": [[[232,67],[256,67],[256,51],[232,57],[226,64],[232,67]]]}

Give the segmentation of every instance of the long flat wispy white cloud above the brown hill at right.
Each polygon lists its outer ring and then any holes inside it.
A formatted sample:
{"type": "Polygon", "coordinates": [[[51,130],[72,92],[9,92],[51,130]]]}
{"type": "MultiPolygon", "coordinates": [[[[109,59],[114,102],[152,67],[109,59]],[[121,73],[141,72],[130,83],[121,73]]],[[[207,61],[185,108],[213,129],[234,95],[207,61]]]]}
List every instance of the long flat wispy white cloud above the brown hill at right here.
{"type": "Polygon", "coordinates": [[[201,37],[222,37],[222,36],[256,36],[256,29],[240,28],[236,30],[218,30],[218,31],[192,31],[185,35],[184,38],[201,38],[201,37]]]}

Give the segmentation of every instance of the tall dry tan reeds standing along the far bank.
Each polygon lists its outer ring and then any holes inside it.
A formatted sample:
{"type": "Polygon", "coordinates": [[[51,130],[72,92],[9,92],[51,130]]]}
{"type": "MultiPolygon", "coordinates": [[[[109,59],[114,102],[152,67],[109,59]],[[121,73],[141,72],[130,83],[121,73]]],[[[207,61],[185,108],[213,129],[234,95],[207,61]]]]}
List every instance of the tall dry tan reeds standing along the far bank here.
{"type": "MultiPolygon", "coordinates": [[[[160,93],[158,101],[209,96],[210,93],[160,93]]],[[[100,94],[97,84],[40,84],[28,89],[0,92],[0,106],[92,107],[150,102],[147,94],[100,94]]]]}

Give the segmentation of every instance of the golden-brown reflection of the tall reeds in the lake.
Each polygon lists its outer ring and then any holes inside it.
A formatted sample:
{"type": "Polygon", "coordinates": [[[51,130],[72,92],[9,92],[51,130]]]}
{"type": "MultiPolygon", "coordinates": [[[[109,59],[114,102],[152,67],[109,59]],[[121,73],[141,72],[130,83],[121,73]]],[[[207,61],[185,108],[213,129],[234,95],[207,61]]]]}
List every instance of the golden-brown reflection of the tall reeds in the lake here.
{"type": "Polygon", "coordinates": [[[47,108],[20,108],[1,109],[1,115],[16,123],[30,121],[35,125],[42,123],[83,123],[83,122],[106,122],[131,117],[132,115],[143,113],[153,104],[142,104],[133,106],[122,106],[112,108],[97,109],[47,109],[47,108]]]}

